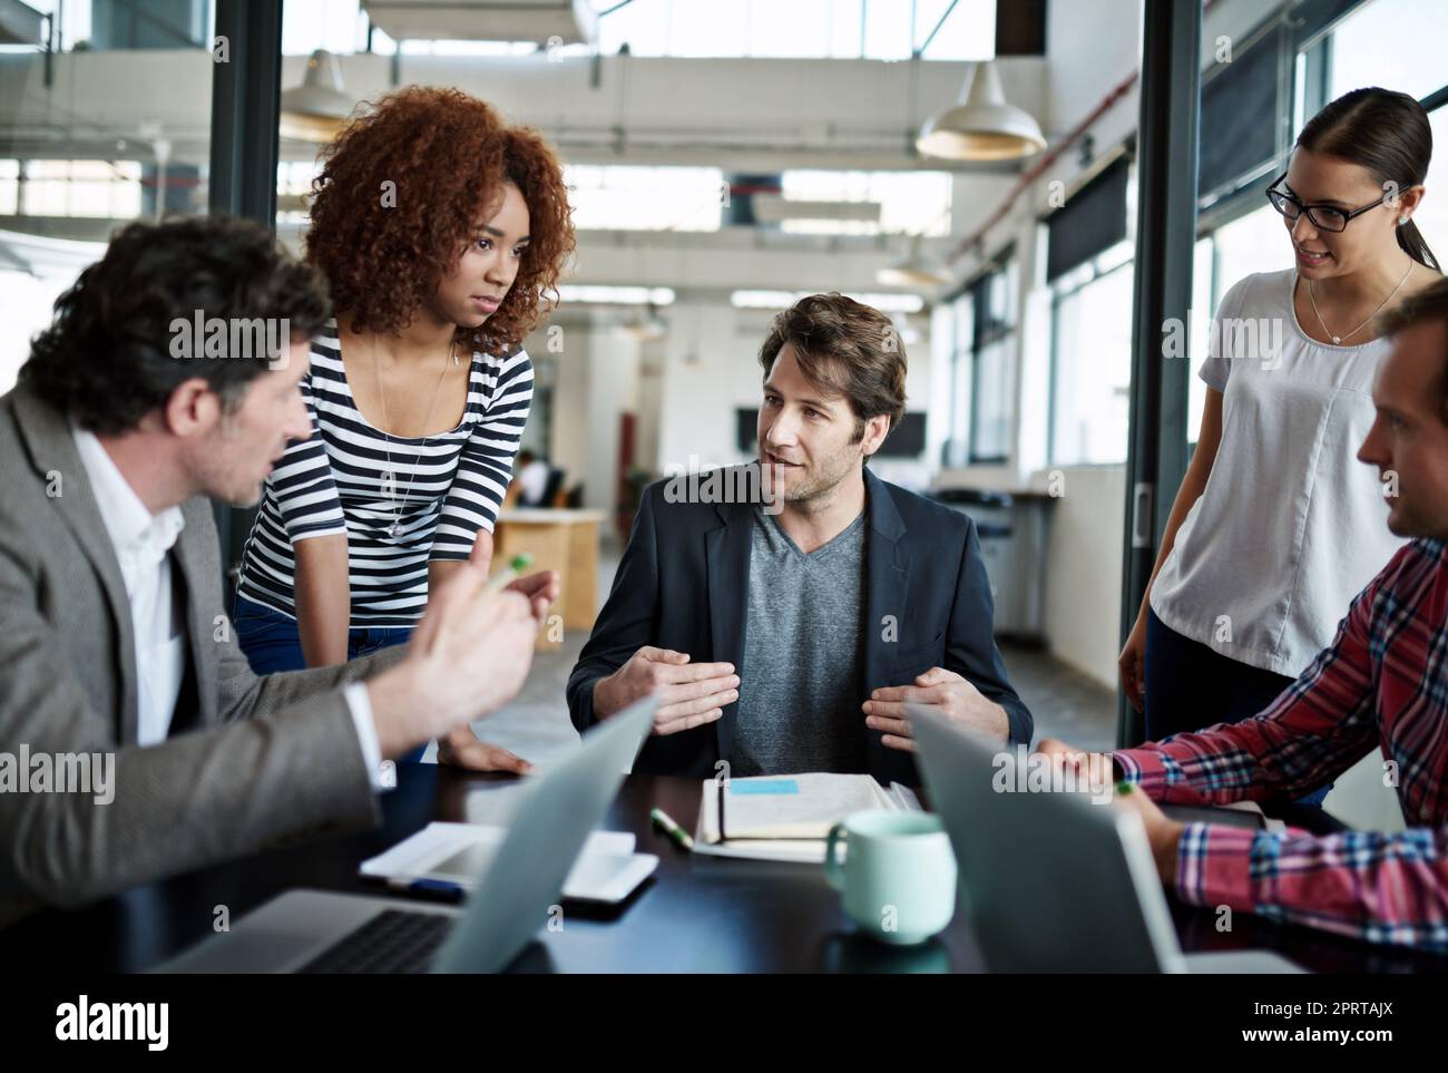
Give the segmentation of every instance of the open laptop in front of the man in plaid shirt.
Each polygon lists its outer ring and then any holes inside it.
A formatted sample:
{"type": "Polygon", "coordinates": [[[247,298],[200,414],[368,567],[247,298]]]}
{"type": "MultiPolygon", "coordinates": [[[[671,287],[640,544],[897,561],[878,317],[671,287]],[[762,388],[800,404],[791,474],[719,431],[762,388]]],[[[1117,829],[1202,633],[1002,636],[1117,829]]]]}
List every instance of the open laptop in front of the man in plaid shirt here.
{"type": "Polygon", "coordinates": [[[1183,954],[1141,817],[1080,792],[1016,786],[1014,749],[908,707],[961,905],[992,972],[1296,973],[1267,951],[1183,954]]]}

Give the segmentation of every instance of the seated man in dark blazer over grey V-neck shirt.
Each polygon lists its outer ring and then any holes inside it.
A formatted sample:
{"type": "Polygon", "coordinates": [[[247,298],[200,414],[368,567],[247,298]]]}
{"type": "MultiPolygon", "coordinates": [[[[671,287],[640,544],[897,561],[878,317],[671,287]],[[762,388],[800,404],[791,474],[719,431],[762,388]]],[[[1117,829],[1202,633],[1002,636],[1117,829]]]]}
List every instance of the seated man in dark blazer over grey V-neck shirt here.
{"type": "Polygon", "coordinates": [[[905,410],[889,319],[838,294],[760,349],[759,462],[652,485],[568,682],[573,724],[657,694],[636,772],[918,785],[906,702],[1030,743],[975,524],[875,476],[905,410]]]}

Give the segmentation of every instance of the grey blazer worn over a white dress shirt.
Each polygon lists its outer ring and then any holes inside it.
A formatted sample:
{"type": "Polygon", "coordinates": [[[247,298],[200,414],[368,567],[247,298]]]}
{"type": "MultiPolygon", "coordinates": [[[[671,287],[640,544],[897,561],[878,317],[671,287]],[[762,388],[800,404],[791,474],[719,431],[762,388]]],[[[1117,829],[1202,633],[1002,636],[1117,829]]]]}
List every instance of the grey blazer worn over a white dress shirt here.
{"type": "Polygon", "coordinates": [[[113,753],[114,798],[0,792],[0,922],[258,850],[378,822],[339,686],[401,649],[258,678],[223,617],[211,504],[182,505],[195,710],[136,744],[136,660],[120,565],[65,417],[0,398],[0,752],[113,753]]]}

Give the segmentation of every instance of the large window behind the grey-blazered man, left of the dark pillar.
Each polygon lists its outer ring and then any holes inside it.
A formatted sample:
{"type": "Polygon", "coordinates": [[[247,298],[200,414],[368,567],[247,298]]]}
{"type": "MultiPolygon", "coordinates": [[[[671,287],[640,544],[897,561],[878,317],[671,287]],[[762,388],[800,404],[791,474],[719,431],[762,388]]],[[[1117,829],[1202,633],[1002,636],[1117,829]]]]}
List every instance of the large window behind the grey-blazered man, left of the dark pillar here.
{"type": "Polygon", "coordinates": [[[0,46],[0,394],[117,227],[207,211],[211,4],[29,6],[55,19],[58,52],[0,46]]]}

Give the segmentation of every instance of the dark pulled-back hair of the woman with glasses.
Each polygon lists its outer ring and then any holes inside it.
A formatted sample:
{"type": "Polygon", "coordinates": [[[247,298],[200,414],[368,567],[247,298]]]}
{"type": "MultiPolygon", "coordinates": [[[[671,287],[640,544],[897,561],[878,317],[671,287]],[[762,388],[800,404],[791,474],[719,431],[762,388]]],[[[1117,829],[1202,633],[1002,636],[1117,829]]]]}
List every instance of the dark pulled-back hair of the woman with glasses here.
{"type": "MultiPolygon", "coordinates": [[[[1322,109],[1297,135],[1297,145],[1358,164],[1376,182],[1397,182],[1399,190],[1407,190],[1428,175],[1434,130],[1416,100],[1373,85],[1344,93],[1322,109]]],[[[1418,264],[1442,271],[1412,220],[1397,227],[1397,245],[1418,264]]]]}

